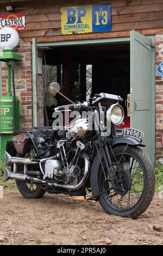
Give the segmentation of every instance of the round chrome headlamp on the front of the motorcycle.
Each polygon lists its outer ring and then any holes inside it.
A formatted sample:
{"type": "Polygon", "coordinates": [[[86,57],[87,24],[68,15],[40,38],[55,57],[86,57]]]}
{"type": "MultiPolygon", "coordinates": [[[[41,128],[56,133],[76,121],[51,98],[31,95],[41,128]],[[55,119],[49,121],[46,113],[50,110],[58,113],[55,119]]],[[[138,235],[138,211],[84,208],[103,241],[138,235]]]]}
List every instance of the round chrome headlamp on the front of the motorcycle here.
{"type": "Polygon", "coordinates": [[[119,125],[122,123],[124,118],[123,107],[119,104],[111,105],[106,111],[106,119],[111,120],[114,125],[119,125]]]}

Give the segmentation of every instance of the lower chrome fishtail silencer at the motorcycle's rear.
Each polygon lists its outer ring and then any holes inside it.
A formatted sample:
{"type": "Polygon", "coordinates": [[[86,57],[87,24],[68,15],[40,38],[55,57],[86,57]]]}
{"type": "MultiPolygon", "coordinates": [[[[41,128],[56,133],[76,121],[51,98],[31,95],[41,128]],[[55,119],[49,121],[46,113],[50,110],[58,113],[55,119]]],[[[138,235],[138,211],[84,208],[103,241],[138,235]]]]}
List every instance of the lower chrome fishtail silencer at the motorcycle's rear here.
{"type": "Polygon", "coordinates": [[[8,168],[4,168],[4,176],[3,176],[4,182],[9,180],[9,179],[14,179],[14,180],[21,180],[21,181],[29,181],[32,183],[37,183],[37,184],[46,184],[45,180],[40,180],[37,178],[34,178],[29,175],[24,175],[21,173],[11,173],[9,172],[8,168]]]}

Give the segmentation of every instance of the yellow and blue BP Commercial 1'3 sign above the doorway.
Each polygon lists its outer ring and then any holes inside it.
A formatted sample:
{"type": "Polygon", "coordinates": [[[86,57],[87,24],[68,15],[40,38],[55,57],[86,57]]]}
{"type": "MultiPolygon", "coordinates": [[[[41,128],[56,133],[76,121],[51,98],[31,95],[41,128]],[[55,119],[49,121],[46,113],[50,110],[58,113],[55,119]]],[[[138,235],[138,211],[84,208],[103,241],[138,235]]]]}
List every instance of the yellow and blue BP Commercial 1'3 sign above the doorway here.
{"type": "Polygon", "coordinates": [[[111,31],[111,4],[61,8],[61,32],[84,34],[111,31]]]}

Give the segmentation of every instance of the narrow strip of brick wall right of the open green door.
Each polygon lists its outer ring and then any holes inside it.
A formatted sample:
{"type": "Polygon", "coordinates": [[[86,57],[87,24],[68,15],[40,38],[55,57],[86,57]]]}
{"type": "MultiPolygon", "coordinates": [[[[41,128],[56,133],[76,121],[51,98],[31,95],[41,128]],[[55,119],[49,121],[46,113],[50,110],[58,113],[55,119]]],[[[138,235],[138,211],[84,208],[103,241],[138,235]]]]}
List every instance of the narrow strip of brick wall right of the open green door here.
{"type": "MultiPolygon", "coordinates": [[[[163,62],[163,34],[156,35],[156,68],[163,62]]],[[[156,72],[156,161],[163,161],[163,77],[156,72]]]]}

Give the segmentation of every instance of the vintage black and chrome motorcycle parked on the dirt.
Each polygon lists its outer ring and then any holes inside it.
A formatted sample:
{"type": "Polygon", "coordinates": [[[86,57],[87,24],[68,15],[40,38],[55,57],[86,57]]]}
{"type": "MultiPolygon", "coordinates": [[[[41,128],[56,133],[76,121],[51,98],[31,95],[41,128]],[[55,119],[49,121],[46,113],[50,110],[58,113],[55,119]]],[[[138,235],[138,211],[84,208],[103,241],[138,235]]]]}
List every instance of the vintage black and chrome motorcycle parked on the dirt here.
{"type": "MultiPolygon", "coordinates": [[[[60,85],[52,83],[49,91],[61,94],[60,85]]],[[[7,142],[4,181],[15,179],[25,198],[64,193],[98,200],[108,214],[141,215],[154,195],[154,169],[140,148],[145,147],[143,133],[115,129],[124,118],[121,97],[100,93],[89,104],[69,101],[55,108],[58,114],[78,113],[69,126],[15,132],[7,142]]]]}

